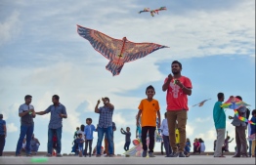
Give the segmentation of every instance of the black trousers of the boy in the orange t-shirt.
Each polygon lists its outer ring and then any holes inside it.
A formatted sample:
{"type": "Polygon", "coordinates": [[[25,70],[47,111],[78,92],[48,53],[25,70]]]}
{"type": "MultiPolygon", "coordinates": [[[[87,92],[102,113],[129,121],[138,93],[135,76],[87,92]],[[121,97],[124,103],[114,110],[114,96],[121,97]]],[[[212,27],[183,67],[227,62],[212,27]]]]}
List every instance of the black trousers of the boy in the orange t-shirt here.
{"type": "Polygon", "coordinates": [[[155,127],[152,127],[152,126],[142,127],[143,149],[148,150],[148,145],[147,145],[148,132],[149,132],[149,152],[153,152],[155,127]]]}

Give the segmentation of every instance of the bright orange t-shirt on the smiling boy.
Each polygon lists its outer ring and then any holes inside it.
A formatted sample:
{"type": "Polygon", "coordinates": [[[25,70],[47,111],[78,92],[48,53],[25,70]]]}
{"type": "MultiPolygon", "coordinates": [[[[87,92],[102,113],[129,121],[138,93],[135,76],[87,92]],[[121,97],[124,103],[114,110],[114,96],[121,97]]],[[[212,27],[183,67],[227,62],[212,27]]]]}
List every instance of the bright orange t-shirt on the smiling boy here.
{"type": "Polygon", "coordinates": [[[156,127],[156,112],[160,109],[158,101],[154,99],[151,102],[147,99],[142,100],[138,108],[142,110],[142,127],[156,127]]]}

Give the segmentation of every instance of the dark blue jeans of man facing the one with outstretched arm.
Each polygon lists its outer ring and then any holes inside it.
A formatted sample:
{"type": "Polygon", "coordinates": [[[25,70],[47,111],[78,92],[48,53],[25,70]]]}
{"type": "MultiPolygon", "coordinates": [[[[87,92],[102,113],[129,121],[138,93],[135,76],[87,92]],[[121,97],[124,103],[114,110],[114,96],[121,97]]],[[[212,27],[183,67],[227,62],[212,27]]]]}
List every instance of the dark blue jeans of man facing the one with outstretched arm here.
{"type": "Polygon", "coordinates": [[[16,155],[21,154],[21,147],[22,147],[22,142],[24,140],[24,137],[26,137],[25,152],[26,154],[30,154],[31,152],[30,141],[32,139],[33,132],[34,132],[34,125],[30,125],[30,126],[21,125],[21,134],[16,147],[16,155]]]}

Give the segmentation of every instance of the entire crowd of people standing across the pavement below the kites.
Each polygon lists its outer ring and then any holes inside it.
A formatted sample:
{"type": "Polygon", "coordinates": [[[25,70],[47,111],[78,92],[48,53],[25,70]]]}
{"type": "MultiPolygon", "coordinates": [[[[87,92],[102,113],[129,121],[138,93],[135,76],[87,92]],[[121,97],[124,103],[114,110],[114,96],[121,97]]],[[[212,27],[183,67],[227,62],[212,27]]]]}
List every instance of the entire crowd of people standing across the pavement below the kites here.
{"type": "MultiPolygon", "coordinates": [[[[193,153],[200,153],[205,151],[205,144],[201,138],[196,138],[191,144],[190,139],[186,135],[186,125],[188,119],[188,96],[192,95],[192,82],[190,78],[181,74],[181,62],[174,61],[171,64],[172,73],[170,73],[164,80],[162,91],[166,92],[166,112],[164,119],[161,121],[160,106],[157,100],[153,99],[155,95],[154,87],[149,85],[146,88],[146,99],[143,99],[138,106],[138,114],[136,115],[136,138],[140,139],[143,145],[142,157],[155,157],[153,154],[155,144],[155,131],[162,136],[162,145],[165,148],[166,157],[189,157],[191,147],[193,146],[193,153]],[[147,144],[149,139],[149,144],[147,144]]],[[[221,107],[224,102],[224,94],[217,95],[218,102],[213,108],[213,119],[217,132],[217,140],[215,143],[214,157],[225,157],[223,151],[229,151],[230,137],[225,138],[226,132],[226,114],[221,107]]],[[[237,99],[242,101],[242,98],[237,96],[237,99]]],[[[32,151],[35,153],[40,145],[39,141],[34,138],[34,122],[33,118],[36,115],[45,115],[51,112],[51,118],[48,126],[48,144],[47,156],[56,155],[62,157],[62,132],[63,132],[63,118],[67,118],[67,113],[64,104],[60,103],[60,97],[54,95],[52,102],[46,110],[35,111],[31,104],[32,96],[24,97],[25,103],[21,104],[19,108],[19,116],[21,117],[21,134],[17,143],[16,156],[21,156],[21,150],[26,153],[26,156],[31,156],[32,151]]],[[[91,157],[95,154],[97,157],[106,153],[106,156],[114,156],[114,131],[116,131],[115,123],[112,121],[114,112],[114,105],[110,103],[109,98],[102,98],[103,106],[100,106],[99,100],[95,106],[95,112],[99,114],[99,122],[95,126],[92,118],[86,119],[86,125],[81,125],[76,128],[74,133],[72,152],[82,156],[91,157]],[[97,145],[92,147],[94,140],[94,132],[98,133],[97,145]],[[102,145],[105,142],[105,147],[102,145]]],[[[248,110],[245,106],[237,109],[241,116],[248,116],[248,110]]],[[[235,115],[231,117],[232,124],[235,126],[235,144],[236,152],[234,157],[247,157],[246,152],[246,137],[245,130],[250,129],[249,135],[255,135],[255,125],[241,121],[235,115]]],[[[252,122],[256,122],[256,110],[252,111],[252,122]]],[[[126,127],[120,129],[121,134],[125,135],[124,150],[129,150],[131,144],[130,128],[126,127]]],[[[3,120],[3,115],[0,114],[0,156],[5,145],[7,137],[6,122],[3,120]]],[[[249,153],[255,156],[255,138],[250,141],[249,153]]]]}

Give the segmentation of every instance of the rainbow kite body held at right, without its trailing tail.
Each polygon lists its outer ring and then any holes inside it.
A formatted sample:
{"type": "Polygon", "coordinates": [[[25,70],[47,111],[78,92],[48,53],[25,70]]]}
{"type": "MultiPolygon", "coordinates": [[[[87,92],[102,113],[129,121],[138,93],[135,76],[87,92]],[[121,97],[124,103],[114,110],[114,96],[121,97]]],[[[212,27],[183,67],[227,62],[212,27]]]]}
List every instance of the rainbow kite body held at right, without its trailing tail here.
{"type": "Polygon", "coordinates": [[[231,108],[231,109],[237,109],[240,106],[250,106],[250,105],[240,101],[239,99],[235,98],[234,96],[231,96],[227,102],[225,102],[221,105],[221,107],[223,107],[223,108],[231,108]]]}

